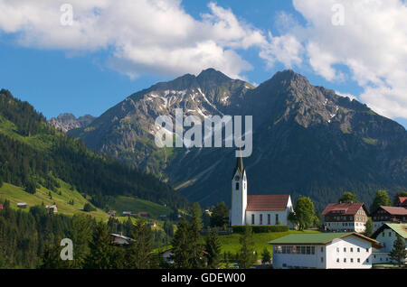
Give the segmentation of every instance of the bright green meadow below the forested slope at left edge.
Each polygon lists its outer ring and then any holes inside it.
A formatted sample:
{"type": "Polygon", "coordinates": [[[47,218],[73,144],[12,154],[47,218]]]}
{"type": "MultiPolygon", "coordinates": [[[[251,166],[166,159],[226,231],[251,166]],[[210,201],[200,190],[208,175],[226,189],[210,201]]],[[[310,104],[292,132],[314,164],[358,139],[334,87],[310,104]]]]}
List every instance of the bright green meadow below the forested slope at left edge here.
{"type": "MultiPolygon", "coordinates": [[[[109,215],[103,210],[97,208],[96,211],[85,212],[82,210],[85,203],[90,203],[88,199],[85,199],[77,190],[70,190],[70,186],[65,182],[61,182],[61,188],[54,192],[47,190],[44,187],[37,189],[35,194],[24,191],[23,188],[14,186],[9,183],[4,183],[0,188],[0,201],[5,199],[9,200],[11,207],[17,209],[18,202],[26,202],[28,208],[35,205],[52,205],[55,203],[58,208],[58,213],[72,216],[76,213],[88,214],[99,220],[107,220],[109,215]],[[61,192],[61,194],[60,194],[61,192]],[[52,199],[50,198],[50,194],[52,199]],[[69,202],[73,200],[73,205],[69,202]]],[[[28,208],[26,209],[28,211],[28,208]]]]}

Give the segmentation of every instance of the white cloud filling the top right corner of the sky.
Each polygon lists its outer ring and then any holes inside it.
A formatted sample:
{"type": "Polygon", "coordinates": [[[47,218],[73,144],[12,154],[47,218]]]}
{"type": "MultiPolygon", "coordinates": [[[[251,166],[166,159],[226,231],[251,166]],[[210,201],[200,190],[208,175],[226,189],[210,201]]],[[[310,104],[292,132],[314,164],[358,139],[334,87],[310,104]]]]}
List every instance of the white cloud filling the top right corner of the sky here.
{"type": "Polygon", "coordinates": [[[402,0],[293,0],[308,22],[293,29],[304,56],[327,80],[354,79],[360,99],[383,116],[407,117],[407,6],[402,0]],[[344,25],[331,9],[345,8],[344,25]],[[338,65],[349,70],[347,77],[338,65]]]}

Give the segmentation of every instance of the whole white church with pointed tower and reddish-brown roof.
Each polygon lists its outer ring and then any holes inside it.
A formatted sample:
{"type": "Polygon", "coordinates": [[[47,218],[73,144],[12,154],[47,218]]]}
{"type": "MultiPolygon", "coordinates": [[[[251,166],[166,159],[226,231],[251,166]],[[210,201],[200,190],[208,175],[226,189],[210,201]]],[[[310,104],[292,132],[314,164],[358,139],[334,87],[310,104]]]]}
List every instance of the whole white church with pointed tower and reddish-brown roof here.
{"type": "Polygon", "coordinates": [[[237,158],[232,177],[231,226],[294,226],[289,213],[294,211],[289,194],[247,195],[247,175],[241,157],[237,158]]]}

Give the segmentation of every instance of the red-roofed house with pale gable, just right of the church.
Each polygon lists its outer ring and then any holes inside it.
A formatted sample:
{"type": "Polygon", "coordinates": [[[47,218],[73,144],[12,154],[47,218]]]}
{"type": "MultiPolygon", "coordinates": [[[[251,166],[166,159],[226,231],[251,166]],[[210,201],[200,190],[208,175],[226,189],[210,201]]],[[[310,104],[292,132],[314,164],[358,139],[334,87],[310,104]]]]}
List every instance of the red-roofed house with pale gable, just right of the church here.
{"type": "Polygon", "coordinates": [[[322,217],[326,230],[362,233],[368,220],[368,211],[363,202],[330,203],[322,212],[322,217]]]}

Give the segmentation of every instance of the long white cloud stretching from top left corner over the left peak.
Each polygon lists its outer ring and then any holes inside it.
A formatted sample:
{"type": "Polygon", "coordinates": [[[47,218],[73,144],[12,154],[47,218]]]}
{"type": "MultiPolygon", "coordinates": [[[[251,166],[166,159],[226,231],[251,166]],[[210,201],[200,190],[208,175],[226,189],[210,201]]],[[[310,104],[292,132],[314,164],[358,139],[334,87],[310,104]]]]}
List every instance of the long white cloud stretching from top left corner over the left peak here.
{"type": "Polygon", "coordinates": [[[0,0],[0,31],[25,46],[112,51],[109,66],[137,77],[213,67],[233,78],[252,69],[235,51],[266,43],[260,30],[214,3],[196,20],[180,0],[71,0],[73,24],[61,24],[62,0],[0,0]]]}

